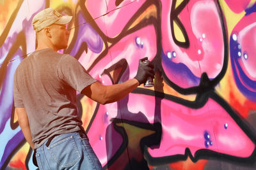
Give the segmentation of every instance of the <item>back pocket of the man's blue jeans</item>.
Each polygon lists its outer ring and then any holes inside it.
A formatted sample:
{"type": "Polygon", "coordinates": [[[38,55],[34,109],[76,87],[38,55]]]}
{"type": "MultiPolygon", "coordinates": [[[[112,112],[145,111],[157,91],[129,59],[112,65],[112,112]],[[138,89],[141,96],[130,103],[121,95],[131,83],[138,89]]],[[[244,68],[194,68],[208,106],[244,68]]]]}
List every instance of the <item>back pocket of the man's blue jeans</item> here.
{"type": "Polygon", "coordinates": [[[55,143],[52,143],[47,148],[47,150],[49,150],[52,158],[61,167],[73,166],[81,157],[81,154],[77,150],[77,146],[73,136],[69,136],[64,139],[59,139],[59,141],[55,141],[55,143]]]}

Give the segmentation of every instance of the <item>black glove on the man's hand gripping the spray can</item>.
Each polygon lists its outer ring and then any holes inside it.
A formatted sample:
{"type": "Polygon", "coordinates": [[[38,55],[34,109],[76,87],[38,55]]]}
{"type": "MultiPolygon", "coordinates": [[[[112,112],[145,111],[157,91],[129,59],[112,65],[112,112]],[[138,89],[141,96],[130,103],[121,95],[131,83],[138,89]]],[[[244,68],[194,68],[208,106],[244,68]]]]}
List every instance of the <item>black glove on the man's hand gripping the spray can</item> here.
{"type": "Polygon", "coordinates": [[[154,78],[154,65],[151,61],[143,62],[147,60],[148,57],[139,60],[139,67],[136,76],[134,77],[139,83],[145,83],[148,77],[154,78]]]}

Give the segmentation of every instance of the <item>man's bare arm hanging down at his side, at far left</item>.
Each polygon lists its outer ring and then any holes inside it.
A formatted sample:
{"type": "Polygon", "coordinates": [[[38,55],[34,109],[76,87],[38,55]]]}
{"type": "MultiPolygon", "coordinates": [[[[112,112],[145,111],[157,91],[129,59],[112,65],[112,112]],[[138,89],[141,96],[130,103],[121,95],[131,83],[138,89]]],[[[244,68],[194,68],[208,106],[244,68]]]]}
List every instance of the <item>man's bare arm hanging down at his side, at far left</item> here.
{"type": "Polygon", "coordinates": [[[31,131],[29,127],[29,122],[28,122],[28,115],[25,110],[25,108],[16,108],[17,115],[18,115],[18,122],[20,125],[20,128],[26,138],[26,141],[29,143],[31,148],[34,150],[35,145],[32,142],[32,136],[31,136],[31,131]]]}

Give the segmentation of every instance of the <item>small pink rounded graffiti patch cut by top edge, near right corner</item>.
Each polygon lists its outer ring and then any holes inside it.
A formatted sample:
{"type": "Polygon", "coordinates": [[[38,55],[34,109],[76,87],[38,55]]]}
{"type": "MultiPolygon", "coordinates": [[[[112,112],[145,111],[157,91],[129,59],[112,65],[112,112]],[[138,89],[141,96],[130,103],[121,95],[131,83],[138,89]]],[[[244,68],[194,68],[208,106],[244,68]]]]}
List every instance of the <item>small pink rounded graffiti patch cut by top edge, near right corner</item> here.
{"type": "Polygon", "coordinates": [[[243,10],[246,9],[248,4],[250,3],[250,0],[225,0],[228,7],[234,11],[235,13],[241,13],[243,10]]]}

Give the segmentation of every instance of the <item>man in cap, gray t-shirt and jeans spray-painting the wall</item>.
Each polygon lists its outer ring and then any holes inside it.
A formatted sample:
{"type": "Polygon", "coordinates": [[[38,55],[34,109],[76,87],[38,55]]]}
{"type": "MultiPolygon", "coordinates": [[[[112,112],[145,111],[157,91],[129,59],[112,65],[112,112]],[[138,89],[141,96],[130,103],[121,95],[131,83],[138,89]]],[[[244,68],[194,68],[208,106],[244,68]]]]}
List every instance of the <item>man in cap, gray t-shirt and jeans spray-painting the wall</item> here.
{"type": "Polygon", "coordinates": [[[94,80],[71,55],[57,51],[67,48],[66,24],[62,16],[47,8],[33,18],[38,46],[22,60],[14,76],[14,101],[20,128],[35,149],[39,169],[101,169],[77,115],[76,91],[100,104],[127,96],[154,78],[151,62],[139,62],[135,78],[105,86],[94,80]]]}

